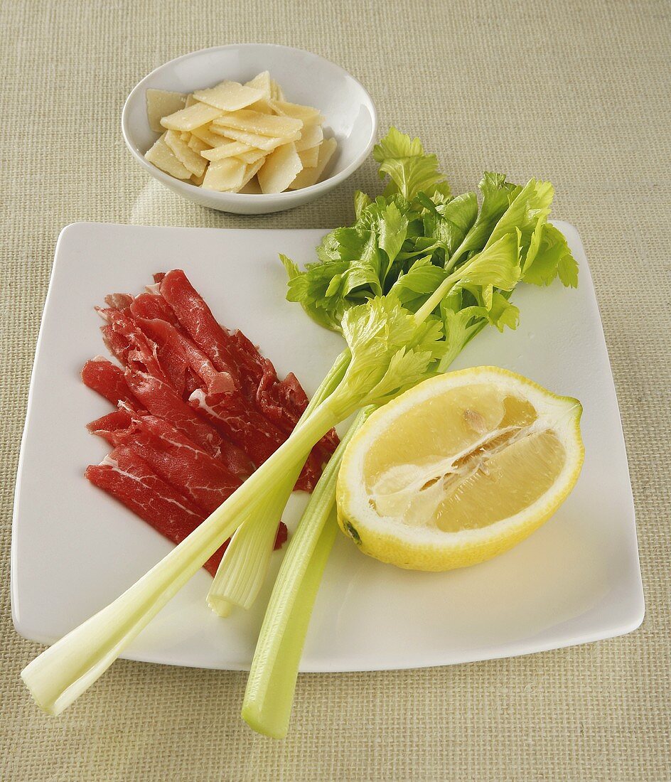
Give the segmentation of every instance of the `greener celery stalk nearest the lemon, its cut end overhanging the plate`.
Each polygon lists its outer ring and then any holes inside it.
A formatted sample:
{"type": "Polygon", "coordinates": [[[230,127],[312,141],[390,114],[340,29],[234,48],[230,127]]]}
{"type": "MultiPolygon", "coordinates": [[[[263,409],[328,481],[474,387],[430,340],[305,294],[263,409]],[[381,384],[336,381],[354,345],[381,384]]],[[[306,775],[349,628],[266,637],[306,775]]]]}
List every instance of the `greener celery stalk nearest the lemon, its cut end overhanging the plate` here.
{"type": "Polygon", "coordinates": [[[242,718],[253,730],[284,738],[296,676],[321,575],[335,540],[335,482],[343,452],[373,410],[360,411],[326,465],[282,560],[247,680],[242,718]]]}

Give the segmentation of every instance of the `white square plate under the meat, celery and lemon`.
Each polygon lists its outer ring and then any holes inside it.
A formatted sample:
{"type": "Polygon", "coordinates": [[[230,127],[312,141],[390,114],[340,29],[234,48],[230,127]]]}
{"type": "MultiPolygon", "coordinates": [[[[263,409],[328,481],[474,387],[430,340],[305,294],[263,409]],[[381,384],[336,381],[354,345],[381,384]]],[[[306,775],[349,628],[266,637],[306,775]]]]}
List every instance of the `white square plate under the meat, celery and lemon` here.
{"type": "MultiPolygon", "coordinates": [[[[521,286],[521,324],[475,339],[458,367],[498,364],[582,401],[586,459],[558,513],[507,554],[447,573],[409,572],[360,554],[339,535],[301,669],[353,671],[522,655],[629,632],[644,614],[623,432],[594,288],[576,230],[558,224],[580,285],[521,286]]],[[[16,630],[52,643],[117,597],[170,543],[83,477],[106,443],[88,421],[109,404],[81,383],[104,353],[93,307],[183,268],[218,319],[260,345],[312,393],[342,343],[285,301],[278,252],[314,258],[324,231],[145,228],[80,223],[56,248],[16,484],[12,608],[16,630]]],[[[304,497],[285,513],[295,524],[304,497]]],[[[274,554],[277,571],[282,554],[274,554]]],[[[199,572],[127,649],[135,660],[246,669],[271,587],[249,612],[219,619],[199,572]]]]}

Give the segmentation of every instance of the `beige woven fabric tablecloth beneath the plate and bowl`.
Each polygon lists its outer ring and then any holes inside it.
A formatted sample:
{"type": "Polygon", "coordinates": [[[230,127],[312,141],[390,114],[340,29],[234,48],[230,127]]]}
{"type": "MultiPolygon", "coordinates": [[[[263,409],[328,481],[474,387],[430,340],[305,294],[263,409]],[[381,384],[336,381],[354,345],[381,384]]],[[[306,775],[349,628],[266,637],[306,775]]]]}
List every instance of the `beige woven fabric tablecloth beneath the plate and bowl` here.
{"type": "Polygon", "coordinates": [[[669,2],[0,3],[2,780],[668,780],[671,5],[669,2]],[[454,190],[483,169],[551,178],[594,273],[638,515],[648,612],[628,637],[526,658],[301,676],[289,738],[239,719],[245,676],[117,662],[60,719],[19,671],[9,539],[30,366],[56,237],[80,220],[307,228],[350,220],[350,194],[231,217],[149,181],[120,111],[174,56],[238,41],[343,65],[438,152],[454,190]]]}

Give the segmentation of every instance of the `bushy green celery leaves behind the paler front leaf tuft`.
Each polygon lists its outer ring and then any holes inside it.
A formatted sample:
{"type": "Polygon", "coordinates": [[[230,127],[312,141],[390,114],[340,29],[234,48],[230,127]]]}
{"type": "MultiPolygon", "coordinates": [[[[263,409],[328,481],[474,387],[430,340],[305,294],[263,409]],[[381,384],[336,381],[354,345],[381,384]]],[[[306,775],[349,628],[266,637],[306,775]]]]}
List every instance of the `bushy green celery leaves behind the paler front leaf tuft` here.
{"type": "Polygon", "coordinates": [[[519,313],[509,299],[519,282],[549,285],[558,278],[562,285],[577,285],[569,246],[547,223],[550,182],[515,185],[486,171],[479,195],[453,198],[436,156],[425,154],[418,138],[391,128],[374,154],[380,176],[390,179],[384,195],[373,200],[355,193],[356,220],[328,233],[318,260],[305,271],[282,256],[287,298],[314,321],[341,332],[350,308],[380,296],[416,313],[432,306],[440,288],[441,295],[460,302],[457,309],[434,310],[450,353],[476,328],[515,328],[519,313]]]}

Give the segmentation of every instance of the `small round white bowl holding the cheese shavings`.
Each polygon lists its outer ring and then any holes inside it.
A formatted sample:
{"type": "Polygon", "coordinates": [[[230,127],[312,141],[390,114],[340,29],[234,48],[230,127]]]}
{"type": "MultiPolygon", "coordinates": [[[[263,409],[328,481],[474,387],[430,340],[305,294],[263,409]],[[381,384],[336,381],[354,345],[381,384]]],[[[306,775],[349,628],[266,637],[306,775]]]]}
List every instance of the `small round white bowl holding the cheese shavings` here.
{"type": "Polygon", "coordinates": [[[274,44],[215,46],[172,59],[142,79],[128,95],[121,116],[128,149],[152,177],[191,201],[239,214],[292,209],[332,190],[364,162],[375,143],[377,127],[371,96],[346,70],[311,52],[274,44]],[[147,89],[192,92],[224,79],[249,81],[262,70],[270,71],[287,100],[314,106],[325,116],[326,135],[335,137],[338,148],[323,181],[302,190],[274,194],[223,193],[170,177],[145,160],[145,152],[158,138],[147,120],[147,89]]]}

